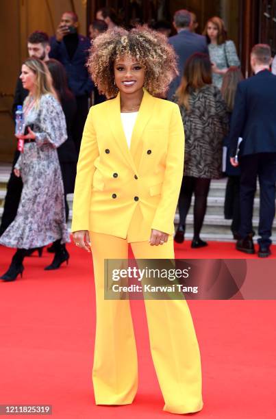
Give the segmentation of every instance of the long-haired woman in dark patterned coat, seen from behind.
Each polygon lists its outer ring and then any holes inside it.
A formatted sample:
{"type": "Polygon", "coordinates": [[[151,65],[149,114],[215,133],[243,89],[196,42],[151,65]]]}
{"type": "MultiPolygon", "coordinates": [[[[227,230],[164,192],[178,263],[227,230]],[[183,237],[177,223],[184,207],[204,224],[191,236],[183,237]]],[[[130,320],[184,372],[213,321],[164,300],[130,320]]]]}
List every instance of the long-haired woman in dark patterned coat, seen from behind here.
{"type": "Polygon", "coordinates": [[[192,248],[207,246],[199,237],[207,207],[211,179],[221,177],[223,138],[228,115],[220,90],[212,85],[212,64],[206,54],[195,53],[186,62],[176,92],[185,127],[184,177],[179,194],[179,226],[175,242],[184,241],[186,216],[195,193],[192,248]]]}

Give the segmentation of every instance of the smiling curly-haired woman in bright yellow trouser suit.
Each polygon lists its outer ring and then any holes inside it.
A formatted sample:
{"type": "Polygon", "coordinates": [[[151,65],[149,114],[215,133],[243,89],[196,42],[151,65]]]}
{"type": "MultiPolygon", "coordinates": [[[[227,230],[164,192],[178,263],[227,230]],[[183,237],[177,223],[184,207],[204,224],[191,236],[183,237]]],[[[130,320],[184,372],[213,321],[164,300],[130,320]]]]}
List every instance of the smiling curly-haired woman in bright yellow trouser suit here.
{"type": "MultiPolygon", "coordinates": [[[[173,259],[173,220],[184,162],[175,103],[158,99],[177,73],[166,38],[147,27],[105,32],[88,62],[108,99],[90,109],[81,141],[73,239],[92,250],[97,329],[92,379],[97,405],[127,405],[138,385],[129,301],[104,299],[104,259],[173,259]]],[[[164,410],[202,409],[201,360],[184,300],[145,300],[151,355],[164,410]]]]}

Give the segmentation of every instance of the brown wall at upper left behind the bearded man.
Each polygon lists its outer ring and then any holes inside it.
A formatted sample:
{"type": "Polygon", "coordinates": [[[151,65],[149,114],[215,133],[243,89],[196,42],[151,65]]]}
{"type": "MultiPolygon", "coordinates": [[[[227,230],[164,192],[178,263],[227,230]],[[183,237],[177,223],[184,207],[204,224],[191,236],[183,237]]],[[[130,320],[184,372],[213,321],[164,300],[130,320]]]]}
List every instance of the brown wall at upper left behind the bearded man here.
{"type": "Polygon", "coordinates": [[[86,34],[86,0],[0,1],[0,161],[11,161],[16,147],[11,107],[21,63],[27,58],[27,36],[37,29],[53,35],[66,10],[78,14],[80,33],[86,34]]]}

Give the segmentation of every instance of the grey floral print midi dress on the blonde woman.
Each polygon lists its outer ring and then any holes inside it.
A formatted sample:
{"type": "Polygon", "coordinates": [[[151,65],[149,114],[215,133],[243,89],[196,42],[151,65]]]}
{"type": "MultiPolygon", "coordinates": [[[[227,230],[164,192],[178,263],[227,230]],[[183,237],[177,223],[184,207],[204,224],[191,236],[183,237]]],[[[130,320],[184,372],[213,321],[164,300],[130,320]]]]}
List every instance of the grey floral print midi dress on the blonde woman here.
{"type": "Polygon", "coordinates": [[[57,147],[66,138],[66,122],[60,103],[42,95],[38,107],[28,96],[23,105],[25,124],[34,124],[35,142],[25,142],[15,168],[21,171],[23,190],[16,218],[0,238],[0,244],[33,249],[55,240],[69,242],[65,221],[64,189],[57,147]]]}

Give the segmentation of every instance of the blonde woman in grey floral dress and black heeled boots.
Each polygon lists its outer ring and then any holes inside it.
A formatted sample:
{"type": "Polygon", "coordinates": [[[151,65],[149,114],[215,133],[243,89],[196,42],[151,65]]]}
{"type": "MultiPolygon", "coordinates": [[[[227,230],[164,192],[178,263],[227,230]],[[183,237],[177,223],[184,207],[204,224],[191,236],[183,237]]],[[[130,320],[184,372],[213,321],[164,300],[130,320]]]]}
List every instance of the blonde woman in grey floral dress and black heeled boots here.
{"type": "Polygon", "coordinates": [[[0,238],[0,244],[17,248],[10,268],[1,277],[4,281],[22,276],[27,249],[60,240],[53,263],[45,269],[58,268],[68,260],[64,252],[64,243],[69,241],[64,190],[56,150],[67,138],[64,113],[42,61],[28,58],[20,77],[23,88],[29,90],[23,104],[27,134],[16,136],[24,144],[14,167],[15,175],[22,177],[23,191],[16,218],[0,238]]]}

